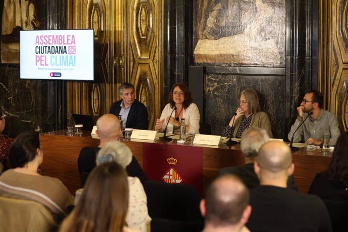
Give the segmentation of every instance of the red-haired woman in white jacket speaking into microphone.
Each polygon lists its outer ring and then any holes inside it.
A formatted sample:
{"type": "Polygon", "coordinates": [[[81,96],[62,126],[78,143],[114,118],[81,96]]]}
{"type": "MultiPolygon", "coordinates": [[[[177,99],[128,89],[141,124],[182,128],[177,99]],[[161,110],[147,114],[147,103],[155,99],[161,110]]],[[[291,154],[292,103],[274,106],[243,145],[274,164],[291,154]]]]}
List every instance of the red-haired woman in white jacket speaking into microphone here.
{"type": "MultiPolygon", "coordinates": [[[[157,132],[163,132],[169,121],[168,128],[172,125],[173,133],[179,134],[182,119],[185,119],[188,134],[198,133],[200,120],[198,107],[192,102],[189,88],[183,83],[177,83],[169,92],[168,104],[165,105],[161,117],[157,119],[155,129],[157,132]]],[[[170,131],[168,129],[167,132],[170,131]]]]}

